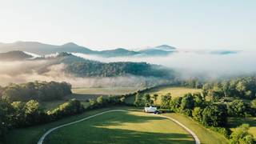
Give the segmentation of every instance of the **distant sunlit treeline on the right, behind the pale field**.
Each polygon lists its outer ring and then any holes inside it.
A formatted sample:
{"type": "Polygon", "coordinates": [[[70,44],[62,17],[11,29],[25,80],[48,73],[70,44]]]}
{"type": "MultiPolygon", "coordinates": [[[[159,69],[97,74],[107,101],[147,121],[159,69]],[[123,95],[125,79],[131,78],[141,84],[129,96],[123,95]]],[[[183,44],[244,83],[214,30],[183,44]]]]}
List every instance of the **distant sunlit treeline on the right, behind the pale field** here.
{"type": "Polygon", "coordinates": [[[177,82],[178,86],[186,86],[203,90],[204,96],[209,96],[214,102],[220,98],[256,98],[256,77],[231,78],[223,81],[203,81],[190,78],[177,82]]]}

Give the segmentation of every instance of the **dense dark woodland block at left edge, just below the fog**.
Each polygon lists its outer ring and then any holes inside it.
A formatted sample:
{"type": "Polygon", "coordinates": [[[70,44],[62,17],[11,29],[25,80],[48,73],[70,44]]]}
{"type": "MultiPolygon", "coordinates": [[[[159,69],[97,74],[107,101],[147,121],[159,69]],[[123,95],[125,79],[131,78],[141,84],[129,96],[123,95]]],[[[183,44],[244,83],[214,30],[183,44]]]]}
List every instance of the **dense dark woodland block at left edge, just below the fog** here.
{"type": "Polygon", "coordinates": [[[61,99],[71,94],[71,85],[66,82],[27,82],[23,84],[11,83],[0,88],[0,96],[11,102],[27,102],[31,99],[37,101],[50,101],[61,99]]]}

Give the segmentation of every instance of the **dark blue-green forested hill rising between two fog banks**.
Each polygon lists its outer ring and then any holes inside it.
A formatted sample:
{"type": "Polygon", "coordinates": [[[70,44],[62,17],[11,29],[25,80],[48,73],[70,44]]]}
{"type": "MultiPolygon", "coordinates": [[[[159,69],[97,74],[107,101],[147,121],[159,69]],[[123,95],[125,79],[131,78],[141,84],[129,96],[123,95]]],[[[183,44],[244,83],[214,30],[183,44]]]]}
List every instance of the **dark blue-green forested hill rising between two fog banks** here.
{"type": "Polygon", "coordinates": [[[146,62],[72,62],[66,66],[66,72],[79,77],[114,77],[132,74],[170,78],[170,70],[146,62]]]}

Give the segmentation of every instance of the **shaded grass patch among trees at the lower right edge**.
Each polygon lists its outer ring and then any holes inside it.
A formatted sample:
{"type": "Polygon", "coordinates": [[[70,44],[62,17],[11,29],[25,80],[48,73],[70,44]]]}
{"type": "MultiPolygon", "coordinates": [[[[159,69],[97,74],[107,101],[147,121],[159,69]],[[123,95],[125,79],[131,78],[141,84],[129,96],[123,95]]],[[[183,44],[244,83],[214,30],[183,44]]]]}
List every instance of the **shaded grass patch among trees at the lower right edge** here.
{"type": "Polygon", "coordinates": [[[241,126],[243,123],[247,123],[250,125],[249,133],[254,135],[256,138],[256,117],[252,118],[229,118],[228,124],[231,130],[234,128],[241,126]]]}

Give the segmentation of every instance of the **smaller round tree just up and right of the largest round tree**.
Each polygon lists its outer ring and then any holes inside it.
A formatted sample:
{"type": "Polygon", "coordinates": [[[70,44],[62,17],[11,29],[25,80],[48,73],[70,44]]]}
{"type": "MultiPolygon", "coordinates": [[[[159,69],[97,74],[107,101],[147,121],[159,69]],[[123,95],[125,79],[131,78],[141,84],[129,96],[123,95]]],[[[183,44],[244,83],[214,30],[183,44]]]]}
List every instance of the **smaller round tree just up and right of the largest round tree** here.
{"type": "Polygon", "coordinates": [[[228,114],[231,117],[245,117],[248,106],[242,100],[234,100],[227,105],[228,114]]]}

